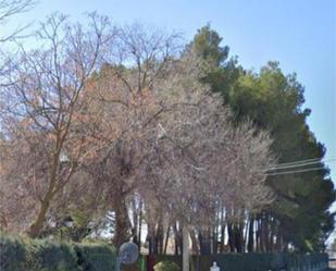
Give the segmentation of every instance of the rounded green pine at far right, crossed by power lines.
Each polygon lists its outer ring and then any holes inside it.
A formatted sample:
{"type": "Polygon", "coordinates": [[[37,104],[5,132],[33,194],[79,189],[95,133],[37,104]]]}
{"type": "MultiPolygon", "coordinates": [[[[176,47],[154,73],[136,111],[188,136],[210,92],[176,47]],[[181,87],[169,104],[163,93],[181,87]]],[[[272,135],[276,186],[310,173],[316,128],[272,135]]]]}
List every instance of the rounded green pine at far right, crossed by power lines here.
{"type": "MultiPolygon", "coordinates": [[[[260,74],[241,74],[235,89],[231,102],[237,115],[240,119],[248,115],[258,126],[271,131],[274,137],[272,149],[279,156],[281,163],[324,157],[323,145],[314,138],[306,124],[310,110],[301,110],[304,101],[303,87],[295,75],[285,76],[278,63],[270,62],[261,69],[260,74]]],[[[303,251],[319,250],[318,243],[324,243],[321,239],[315,243],[313,236],[321,230],[324,231],[321,224],[328,223],[332,219],[325,212],[335,197],[332,182],[327,178],[327,169],[321,160],[315,167],[321,170],[300,174],[271,174],[269,177],[269,185],[278,197],[271,212],[279,218],[284,238],[303,251]],[[315,197],[319,199],[311,201],[315,197]],[[312,212],[314,222],[311,221],[312,212]],[[310,233],[304,233],[308,229],[310,233]],[[309,243],[315,245],[308,245],[309,243]]]]}

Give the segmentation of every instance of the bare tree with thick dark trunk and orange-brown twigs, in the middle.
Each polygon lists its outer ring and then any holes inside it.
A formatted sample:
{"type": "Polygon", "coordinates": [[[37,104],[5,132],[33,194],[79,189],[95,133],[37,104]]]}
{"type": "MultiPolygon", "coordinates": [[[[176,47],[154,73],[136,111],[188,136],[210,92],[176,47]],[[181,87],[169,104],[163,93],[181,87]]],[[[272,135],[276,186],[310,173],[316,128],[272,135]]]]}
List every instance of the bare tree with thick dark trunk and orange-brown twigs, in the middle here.
{"type": "Polygon", "coordinates": [[[119,29],[116,46],[85,93],[89,104],[86,127],[100,146],[100,158],[91,170],[109,183],[111,208],[115,211],[114,243],[128,237],[127,197],[138,186],[137,169],[147,156],[144,141],[162,107],[153,85],[165,76],[177,49],[178,36],[147,32],[133,25],[119,29]]]}

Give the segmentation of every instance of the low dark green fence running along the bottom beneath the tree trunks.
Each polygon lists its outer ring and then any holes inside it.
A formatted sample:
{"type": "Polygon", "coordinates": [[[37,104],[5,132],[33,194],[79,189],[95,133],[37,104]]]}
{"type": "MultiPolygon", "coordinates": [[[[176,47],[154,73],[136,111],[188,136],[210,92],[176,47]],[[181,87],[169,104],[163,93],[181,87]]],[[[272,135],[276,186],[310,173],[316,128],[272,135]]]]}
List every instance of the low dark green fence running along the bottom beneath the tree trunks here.
{"type": "MultiPolygon", "coordinates": [[[[178,256],[141,256],[137,264],[123,271],[153,271],[160,261],[173,261],[182,267],[178,256]]],[[[328,268],[326,254],[223,254],[191,256],[190,271],[209,271],[213,262],[221,271],[324,271],[328,268]]]]}

